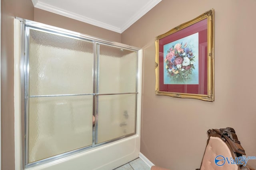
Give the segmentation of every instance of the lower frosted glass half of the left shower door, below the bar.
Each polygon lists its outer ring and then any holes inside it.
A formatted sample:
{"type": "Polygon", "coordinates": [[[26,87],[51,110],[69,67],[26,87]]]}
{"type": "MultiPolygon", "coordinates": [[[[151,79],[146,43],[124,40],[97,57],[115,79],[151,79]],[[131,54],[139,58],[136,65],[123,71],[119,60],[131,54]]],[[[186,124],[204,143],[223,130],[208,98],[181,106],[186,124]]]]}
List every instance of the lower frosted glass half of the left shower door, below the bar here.
{"type": "Polygon", "coordinates": [[[92,96],[30,98],[29,162],[92,145],[92,96]]]}

